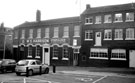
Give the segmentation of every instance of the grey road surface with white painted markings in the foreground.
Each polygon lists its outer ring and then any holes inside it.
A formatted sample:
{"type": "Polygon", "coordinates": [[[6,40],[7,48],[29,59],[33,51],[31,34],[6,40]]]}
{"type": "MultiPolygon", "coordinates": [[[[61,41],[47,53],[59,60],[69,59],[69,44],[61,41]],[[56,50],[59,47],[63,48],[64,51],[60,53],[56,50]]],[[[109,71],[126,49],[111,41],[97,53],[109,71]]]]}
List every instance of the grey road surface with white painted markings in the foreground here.
{"type": "MultiPolygon", "coordinates": [[[[80,72],[83,73],[83,72],[80,72]]],[[[0,73],[1,83],[135,83],[135,76],[107,74],[76,74],[56,72],[26,77],[15,73],[0,73]]]]}

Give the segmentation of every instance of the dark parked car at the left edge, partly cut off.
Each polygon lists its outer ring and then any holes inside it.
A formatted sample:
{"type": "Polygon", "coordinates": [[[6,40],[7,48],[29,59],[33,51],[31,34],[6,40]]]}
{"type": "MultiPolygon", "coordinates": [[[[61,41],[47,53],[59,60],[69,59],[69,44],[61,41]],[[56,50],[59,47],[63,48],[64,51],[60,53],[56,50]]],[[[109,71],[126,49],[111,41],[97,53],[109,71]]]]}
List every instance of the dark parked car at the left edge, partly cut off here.
{"type": "Polygon", "coordinates": [[[16,61],[13,59],[1,59],[0,60],[0,71],[5,73],[7,71],[15,71],[16,61]]]}

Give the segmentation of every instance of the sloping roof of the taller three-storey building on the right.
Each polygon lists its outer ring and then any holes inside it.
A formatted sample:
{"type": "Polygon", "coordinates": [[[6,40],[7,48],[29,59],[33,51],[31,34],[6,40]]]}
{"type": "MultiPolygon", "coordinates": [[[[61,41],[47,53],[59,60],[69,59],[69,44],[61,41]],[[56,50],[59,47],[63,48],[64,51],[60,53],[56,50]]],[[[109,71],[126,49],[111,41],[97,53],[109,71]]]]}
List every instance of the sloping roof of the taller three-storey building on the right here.
{"type": "Polygon", "coordinates": [[[86,9],[82,14],[93,14],[102,12],[113,12],[113,11],[124,11],[129,9],[135,9],[135,3],[101,6],[101,7],[91,7],[86,9]]]}

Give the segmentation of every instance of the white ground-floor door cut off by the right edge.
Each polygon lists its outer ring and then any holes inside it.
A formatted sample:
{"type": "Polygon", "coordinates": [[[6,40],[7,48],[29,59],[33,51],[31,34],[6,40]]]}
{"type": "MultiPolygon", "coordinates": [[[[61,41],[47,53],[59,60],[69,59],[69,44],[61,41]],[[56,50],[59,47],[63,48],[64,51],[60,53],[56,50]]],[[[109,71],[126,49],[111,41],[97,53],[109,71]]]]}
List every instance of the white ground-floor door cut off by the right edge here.
{"type": "Polygon", "coordinates": [[[129,67],[135,68],[135,50],[129,51],[129,67]]]}

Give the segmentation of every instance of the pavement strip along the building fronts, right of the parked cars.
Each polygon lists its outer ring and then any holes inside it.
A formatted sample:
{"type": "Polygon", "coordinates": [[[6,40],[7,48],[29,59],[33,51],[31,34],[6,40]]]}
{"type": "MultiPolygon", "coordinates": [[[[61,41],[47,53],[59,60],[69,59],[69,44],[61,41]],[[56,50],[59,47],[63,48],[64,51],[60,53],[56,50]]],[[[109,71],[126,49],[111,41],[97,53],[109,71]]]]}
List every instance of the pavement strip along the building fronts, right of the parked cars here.
{"type": "MultiPolygon", "coordinates": [[[[53,72],[52,66],[50,67],[50,69],[53,72]]],[[[98,76],[122,76],[135,78],[135,68],[56,66],[56,73],[98,76]]]]}

